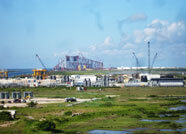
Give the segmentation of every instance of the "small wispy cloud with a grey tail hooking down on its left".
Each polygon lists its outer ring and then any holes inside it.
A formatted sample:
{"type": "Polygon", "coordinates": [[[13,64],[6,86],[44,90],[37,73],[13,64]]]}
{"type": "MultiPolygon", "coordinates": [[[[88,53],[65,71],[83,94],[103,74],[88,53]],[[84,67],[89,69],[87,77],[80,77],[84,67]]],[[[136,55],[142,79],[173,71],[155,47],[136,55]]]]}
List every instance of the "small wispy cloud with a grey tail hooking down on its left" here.
{"type": "Polygon", "coordinates": [[[136,23],[136,22],[141,22],[141,21],[145,21],[145,20],[147,20],[147,16],[143,13],[137,13],[137,14],[129,16],[123,20],[120,20],[118,23],[119,33],[123,36],[123,34],[124,34],[123,25],[125,23],[136,23]]]}

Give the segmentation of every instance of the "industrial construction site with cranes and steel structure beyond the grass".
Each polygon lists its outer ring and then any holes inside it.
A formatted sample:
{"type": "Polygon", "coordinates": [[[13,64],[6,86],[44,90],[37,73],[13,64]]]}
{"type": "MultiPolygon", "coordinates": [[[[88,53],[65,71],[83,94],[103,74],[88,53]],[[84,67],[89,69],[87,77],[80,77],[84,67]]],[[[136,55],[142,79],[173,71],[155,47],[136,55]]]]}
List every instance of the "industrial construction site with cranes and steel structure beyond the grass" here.
{"type": "MultiPolygon", "coordinates": [[[[141,67],[140,61],[135,52],[132,52],[135,60],[135,67],[129,68],[128,72],[109,73],[109,70],[104,68],[104,63],[101,61],[90,60],[83,56],[65,56],[65,60],[61,60],[52,70],[47,69],[44,62],[38,54],[36,59],[40,62],[42,69],[33,69],[31,76],[9,78],[8,70],[0,71],[0,86],[8,87],[57,87],[57,86],[84,86],[84,87],[126,87],[126,86],[185,86],[185,76],[182,72],[181,77],[175,74],[166,72],[153,72],[153,66],[156,63],[158,53],[155,53],[151,62],[150,42],[148,46],[148,66],[141,67]],[[107,74],[86,74],[86,71],[104,71],[108,70],[107,74]],[[85,72],[82,75],[54,75],[54,72],[85,72]]],[[[111,72],[111,71],[110,71],[111,72]]]]}

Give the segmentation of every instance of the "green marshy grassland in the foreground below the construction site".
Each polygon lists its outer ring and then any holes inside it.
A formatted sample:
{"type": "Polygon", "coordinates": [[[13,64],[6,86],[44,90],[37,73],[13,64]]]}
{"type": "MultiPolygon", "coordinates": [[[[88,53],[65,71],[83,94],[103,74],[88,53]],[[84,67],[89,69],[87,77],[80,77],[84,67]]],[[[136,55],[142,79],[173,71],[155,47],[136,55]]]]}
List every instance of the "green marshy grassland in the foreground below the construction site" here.
{"type": "MultiPolygon", "coordinates": [[[[49,98],[101,98],[100,100],[67,106],[69,103],[38,105],[17,110],[15,124],[1,127],[0,133],[88,133],[90,130],[124,130],[151,128],[134,133],[175,133],[159,132],[157,129],[184,128],[174,120],[185,115],[186,111],[170,111],[169,107],[186,105],[186,88],[90,88],[78,92],[74,88],[23,88],[1,89],[0,91],[33,91],[35,97],[49,98]],[[106,95],[120,95],[106,97],[106,95]],[[159,117],[160,114],[171,116],[159,117]],[[72,116],[74,115],[74,116],[72,116]],[[165,122],[142,122],[141,119],[168,120],[165,122]],[[46,126],[53,126],[45,128],[46,126]]],[[[11,122],[11,121],[10,121],[11,122]]],[[[0,124],[5,122],[0,121],[0,124]]],[[[182,132],[184,133],[184,132],[182,132]]]]}

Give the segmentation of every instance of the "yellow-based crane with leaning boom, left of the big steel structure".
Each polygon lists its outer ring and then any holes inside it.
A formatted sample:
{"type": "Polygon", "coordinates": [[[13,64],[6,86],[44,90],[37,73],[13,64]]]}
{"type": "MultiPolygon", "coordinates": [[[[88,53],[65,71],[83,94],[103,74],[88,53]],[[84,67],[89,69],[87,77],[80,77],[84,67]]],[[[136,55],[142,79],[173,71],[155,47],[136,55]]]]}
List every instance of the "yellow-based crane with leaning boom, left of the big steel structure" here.
{"type": "Polygon", "coordinates": [[[46,66],[44,65],[38,54],[36,54],[36,57],[38,58],[44,69],[33,69],[33,77],[35,77],[36,79],[46,79],[46,77],[48,76],[46,66]]]}

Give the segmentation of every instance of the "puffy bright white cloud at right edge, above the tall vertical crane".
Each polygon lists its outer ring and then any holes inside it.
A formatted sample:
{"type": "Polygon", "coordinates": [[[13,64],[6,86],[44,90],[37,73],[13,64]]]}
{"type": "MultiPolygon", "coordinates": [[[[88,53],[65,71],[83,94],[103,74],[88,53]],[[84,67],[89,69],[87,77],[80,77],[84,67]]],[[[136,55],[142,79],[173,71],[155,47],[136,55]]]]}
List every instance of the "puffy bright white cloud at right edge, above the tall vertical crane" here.
{"type": "Polygon", "coordinates": [[[142,32],[144,40],[156,43],[185,43],[185,23],[183,21],[168,23],[167,21],[154,20],[142,32]]]}

